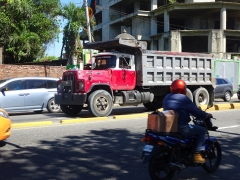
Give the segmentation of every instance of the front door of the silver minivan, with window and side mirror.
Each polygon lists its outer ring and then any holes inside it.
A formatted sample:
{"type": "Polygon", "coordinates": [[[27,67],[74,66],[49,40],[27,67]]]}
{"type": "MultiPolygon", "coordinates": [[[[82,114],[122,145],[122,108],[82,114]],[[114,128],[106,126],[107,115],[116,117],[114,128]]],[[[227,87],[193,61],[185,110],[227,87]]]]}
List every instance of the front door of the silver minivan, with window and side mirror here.
{"type": "Polygon", "coordinates": [[[0,104],[7,112],[24,111],[24,83],[11,80],[1,87],[0,104]]]}

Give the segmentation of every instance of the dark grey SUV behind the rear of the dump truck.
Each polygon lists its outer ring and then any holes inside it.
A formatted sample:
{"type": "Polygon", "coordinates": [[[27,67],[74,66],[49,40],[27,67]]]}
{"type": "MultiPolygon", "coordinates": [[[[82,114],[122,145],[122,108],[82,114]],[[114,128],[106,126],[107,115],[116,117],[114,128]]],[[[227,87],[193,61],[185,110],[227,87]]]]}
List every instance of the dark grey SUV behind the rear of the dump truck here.
{"type": "Polygon", "coordinates": [[[216,87],[214,89],[215,98],[222,98],[229,102],[233,96],[233,85],[226,78],[216,78],[216,87]]]}

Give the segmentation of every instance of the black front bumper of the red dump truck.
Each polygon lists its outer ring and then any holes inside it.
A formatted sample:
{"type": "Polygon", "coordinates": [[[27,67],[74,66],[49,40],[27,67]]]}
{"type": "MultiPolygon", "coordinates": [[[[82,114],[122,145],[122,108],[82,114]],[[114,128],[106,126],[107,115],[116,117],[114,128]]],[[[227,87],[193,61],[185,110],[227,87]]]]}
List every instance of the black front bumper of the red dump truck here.
{"type": "Polygon", "coordinates": [[[64,105],[83,105],[87,100],[86,93],[56,93],[55,103],[64,105]]]}

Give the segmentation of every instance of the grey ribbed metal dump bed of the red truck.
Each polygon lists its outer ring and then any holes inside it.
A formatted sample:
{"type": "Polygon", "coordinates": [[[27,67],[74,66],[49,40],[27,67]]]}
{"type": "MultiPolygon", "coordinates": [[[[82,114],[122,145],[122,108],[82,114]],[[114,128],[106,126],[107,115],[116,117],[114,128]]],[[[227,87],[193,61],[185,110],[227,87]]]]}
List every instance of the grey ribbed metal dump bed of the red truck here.
{"type": "Polygon", "coordinates": [[[211,54],[147,50],[136,65],[138,86],[170,85],[179,78],[188,85],[210,85],[214,77],[211,54]]]}

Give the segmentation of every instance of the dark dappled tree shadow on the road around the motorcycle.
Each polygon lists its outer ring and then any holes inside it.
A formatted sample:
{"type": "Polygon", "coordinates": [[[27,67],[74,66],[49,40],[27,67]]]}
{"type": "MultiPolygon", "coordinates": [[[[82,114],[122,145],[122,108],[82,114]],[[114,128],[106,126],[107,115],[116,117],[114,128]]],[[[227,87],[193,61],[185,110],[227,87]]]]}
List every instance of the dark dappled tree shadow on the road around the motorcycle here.
{"type": "MultiPolygon", "coordinates": [[[[148,180],[147,165],[140,159],[143,147],[140,138],[142,134],[125,129],[103,129],[89,131],[85,136],[40,141],[38,147],[8,144],[14,148],[11,151],[0,149],[0,178],[148,180]]],[[[217,172],[208,174],[201,167],[188,168],[176,174],[175,179],[237,180],[240,177],[239,135],[230,138],[228,134],[221,134],[218,139],[223,159],[217,172]]]]}

